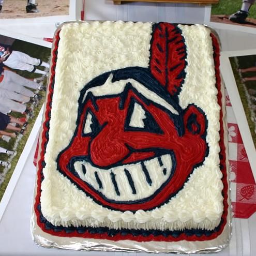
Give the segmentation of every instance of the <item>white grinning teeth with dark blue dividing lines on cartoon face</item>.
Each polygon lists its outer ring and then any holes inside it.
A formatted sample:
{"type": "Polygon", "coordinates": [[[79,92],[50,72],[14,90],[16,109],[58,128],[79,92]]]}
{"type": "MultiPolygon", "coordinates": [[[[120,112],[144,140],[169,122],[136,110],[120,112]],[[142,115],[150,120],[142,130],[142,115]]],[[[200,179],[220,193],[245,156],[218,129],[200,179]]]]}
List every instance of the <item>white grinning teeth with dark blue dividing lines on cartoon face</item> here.
{"type": "Polygon", "coordinates": [[[154,194],[172,174],[171,155],[126,164],[109,170],[77,161],[74,169],[79,177],[109,200],[141,200],[154,194]],[[146,188],[146,189],[145,189],[146,188]]]}

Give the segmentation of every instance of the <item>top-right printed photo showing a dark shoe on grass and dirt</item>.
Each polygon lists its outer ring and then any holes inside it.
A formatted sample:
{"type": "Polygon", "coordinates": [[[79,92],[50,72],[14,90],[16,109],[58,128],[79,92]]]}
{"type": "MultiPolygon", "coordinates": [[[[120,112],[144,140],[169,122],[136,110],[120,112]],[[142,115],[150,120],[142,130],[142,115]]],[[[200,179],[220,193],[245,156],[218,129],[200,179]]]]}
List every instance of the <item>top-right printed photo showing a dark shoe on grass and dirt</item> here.
{"type": "Polygon", "coordinates": [[[212,5],[210,21],[256,28],[256,1],[220,0],[212,5]]]}

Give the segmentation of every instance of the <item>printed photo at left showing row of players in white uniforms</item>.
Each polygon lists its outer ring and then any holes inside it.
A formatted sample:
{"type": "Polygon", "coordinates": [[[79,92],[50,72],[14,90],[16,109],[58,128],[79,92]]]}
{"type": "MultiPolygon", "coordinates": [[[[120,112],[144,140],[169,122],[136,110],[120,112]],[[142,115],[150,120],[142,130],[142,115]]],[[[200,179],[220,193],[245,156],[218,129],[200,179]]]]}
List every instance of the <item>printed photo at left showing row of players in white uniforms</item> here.
{"type": "Polygon", "coordinates": [[[0,35],[0,201],[46,95],[51,49],[0,35]]]}

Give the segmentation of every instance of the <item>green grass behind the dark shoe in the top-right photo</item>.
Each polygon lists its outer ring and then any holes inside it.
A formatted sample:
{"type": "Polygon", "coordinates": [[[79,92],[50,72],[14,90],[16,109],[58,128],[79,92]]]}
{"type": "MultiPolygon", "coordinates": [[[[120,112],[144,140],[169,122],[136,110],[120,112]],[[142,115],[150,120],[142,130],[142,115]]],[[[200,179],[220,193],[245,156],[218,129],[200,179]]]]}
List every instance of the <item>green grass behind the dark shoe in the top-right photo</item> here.
{"type": "MultiPolygon", "coordinates": [[[[212,14],[214,15],[230,15],[240,10],[242,0],[220,0],[219,4],[212,5],[212,14]]],[[[252,5],[248,18],[256,19],[256,4],[252,5]]]]}

